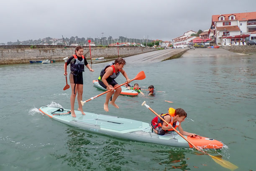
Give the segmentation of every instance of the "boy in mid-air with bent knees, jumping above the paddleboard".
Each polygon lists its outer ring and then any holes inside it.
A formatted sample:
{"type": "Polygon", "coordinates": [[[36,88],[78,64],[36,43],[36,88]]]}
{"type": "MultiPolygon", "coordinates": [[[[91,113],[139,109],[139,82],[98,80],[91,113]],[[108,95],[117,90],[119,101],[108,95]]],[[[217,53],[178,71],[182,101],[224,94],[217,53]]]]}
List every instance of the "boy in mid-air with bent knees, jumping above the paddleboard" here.
{"type": "Polygon", "coordinates": [[[100,72],[100,76],[98,78],[99,84],[106,88],[107,90],[111,90],[107,93],[106,101],[104,103],[104,110],[108,112],[108,102],[111,98],[111,96],[114,94],[112,100],[110,101],[110,104],[115,106],[116,108],[119,108],[115,104],[116,98],[118,98],[119,94],[122,91],[121,87],[118,87],[118,83],[115,81],[115,78],[118,77],[120,73],[123,74],[123,76],[126,78],[126,81],[128,83],[131,83],[131,80],[128,78],[128,75],[123,70],[123,66],[125,65],[125,60],[123,58],[116,58],[115,62],[109,63],[106,65],[100,72]]]}

